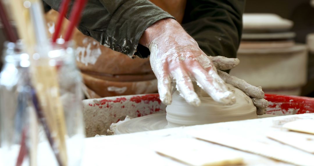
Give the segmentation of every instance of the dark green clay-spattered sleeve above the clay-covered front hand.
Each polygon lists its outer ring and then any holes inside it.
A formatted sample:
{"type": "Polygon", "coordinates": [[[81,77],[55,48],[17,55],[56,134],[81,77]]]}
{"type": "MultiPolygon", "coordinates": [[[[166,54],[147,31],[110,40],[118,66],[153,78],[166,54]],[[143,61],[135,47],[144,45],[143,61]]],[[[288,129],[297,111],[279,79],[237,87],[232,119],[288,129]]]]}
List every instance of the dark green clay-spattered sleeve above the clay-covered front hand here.
{"type": "MultiPolygon", "coordinates": [[[[43,1],[57,11],[61,3],[43,1]]],[[[73,1],[70,8],[72,5],[73,1]]],[[[148,0],[88,0],[78,30],[114,51],[147,58],[148,48],[138,41],[146,28],[165,18],[173,17],[148,0]]]]}

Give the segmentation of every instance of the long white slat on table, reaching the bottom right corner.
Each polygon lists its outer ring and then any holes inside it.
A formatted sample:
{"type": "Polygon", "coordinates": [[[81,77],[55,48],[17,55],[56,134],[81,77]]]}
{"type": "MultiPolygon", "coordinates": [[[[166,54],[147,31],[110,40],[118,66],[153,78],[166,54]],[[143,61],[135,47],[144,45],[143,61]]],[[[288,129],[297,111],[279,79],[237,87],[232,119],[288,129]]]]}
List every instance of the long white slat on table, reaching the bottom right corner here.
{"type": "Polygon", "coordinates": [[[314,161],[313,154],[289,146],[252,141],[244,137],[219,131],[210,131],[208,133],[190,132],[189,135],[203,141],[212,142],[225,147],[231,147],[295,165],[312,166],[314,161]]]}

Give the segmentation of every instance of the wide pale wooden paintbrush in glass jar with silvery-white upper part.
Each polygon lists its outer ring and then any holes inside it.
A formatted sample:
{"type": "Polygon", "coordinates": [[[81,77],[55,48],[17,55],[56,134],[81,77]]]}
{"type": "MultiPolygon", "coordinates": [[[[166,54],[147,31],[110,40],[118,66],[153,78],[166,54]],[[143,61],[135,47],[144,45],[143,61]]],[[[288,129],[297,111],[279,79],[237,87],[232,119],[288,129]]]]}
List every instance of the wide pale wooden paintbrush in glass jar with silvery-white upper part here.
{"type": "MultiPolygon", "coordinates": [[[[60,100],[59,84],[57,69],[55,66],[51,66],[50,58],[48,57],[48,51],[51,50],[50,45],[47,43],[46,26],[43,18],[42,3],[39,0],[32,0],[30,13],[33,18],[35,36],[37,43],[45,43],[41,49],[37,50],[43,58],[39,59],[40,64],[35,64],[35,67],[31,69],[32,81],[36,90],[39,103],[41,105],[42,113],[46,118],[47,130],[53,135],[50,135],[48,139],[52,138],[56,146],[52,146],[53,151],[56,154],[59,165],[67,165],[67,150],[66,150],[66,124],[63,112],[62,102],[60,100]],[[48,51],[47,51],[48,50],[48,51]],[[50,93],[47,93],[47,92],[50,93]],[[55,144],[56,145],[56,144],[55,144]]],[[[48,136],[48,135],[47,135],[48,136]]]]}

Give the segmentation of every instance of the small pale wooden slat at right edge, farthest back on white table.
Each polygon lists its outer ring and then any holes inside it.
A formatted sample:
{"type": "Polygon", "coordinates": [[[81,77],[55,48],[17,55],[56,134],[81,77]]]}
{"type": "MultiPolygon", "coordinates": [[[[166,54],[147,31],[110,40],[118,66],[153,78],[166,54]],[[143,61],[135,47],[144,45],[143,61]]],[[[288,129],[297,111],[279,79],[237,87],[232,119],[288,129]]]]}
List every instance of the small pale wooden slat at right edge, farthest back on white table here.
{"type": "Polygon", "coordinates": [[[282,127],[292,131],[314,134],[314,119],[296,120],[288,122],[282,127]]]}

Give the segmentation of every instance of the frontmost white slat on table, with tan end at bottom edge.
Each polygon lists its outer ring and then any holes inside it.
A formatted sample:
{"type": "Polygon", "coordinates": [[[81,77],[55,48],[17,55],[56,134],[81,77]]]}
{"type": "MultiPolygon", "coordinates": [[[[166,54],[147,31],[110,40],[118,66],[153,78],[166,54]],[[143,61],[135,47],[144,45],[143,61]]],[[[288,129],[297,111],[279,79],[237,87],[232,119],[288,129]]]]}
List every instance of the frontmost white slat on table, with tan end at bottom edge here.
{"type": "Polygon", "coordinates": [[[155,151],[161,156],[187,165],[225,166],[243,164],[239,154],[228,149],[217,148],[194,138],[166,139],[156,143],[155,151]]]}

